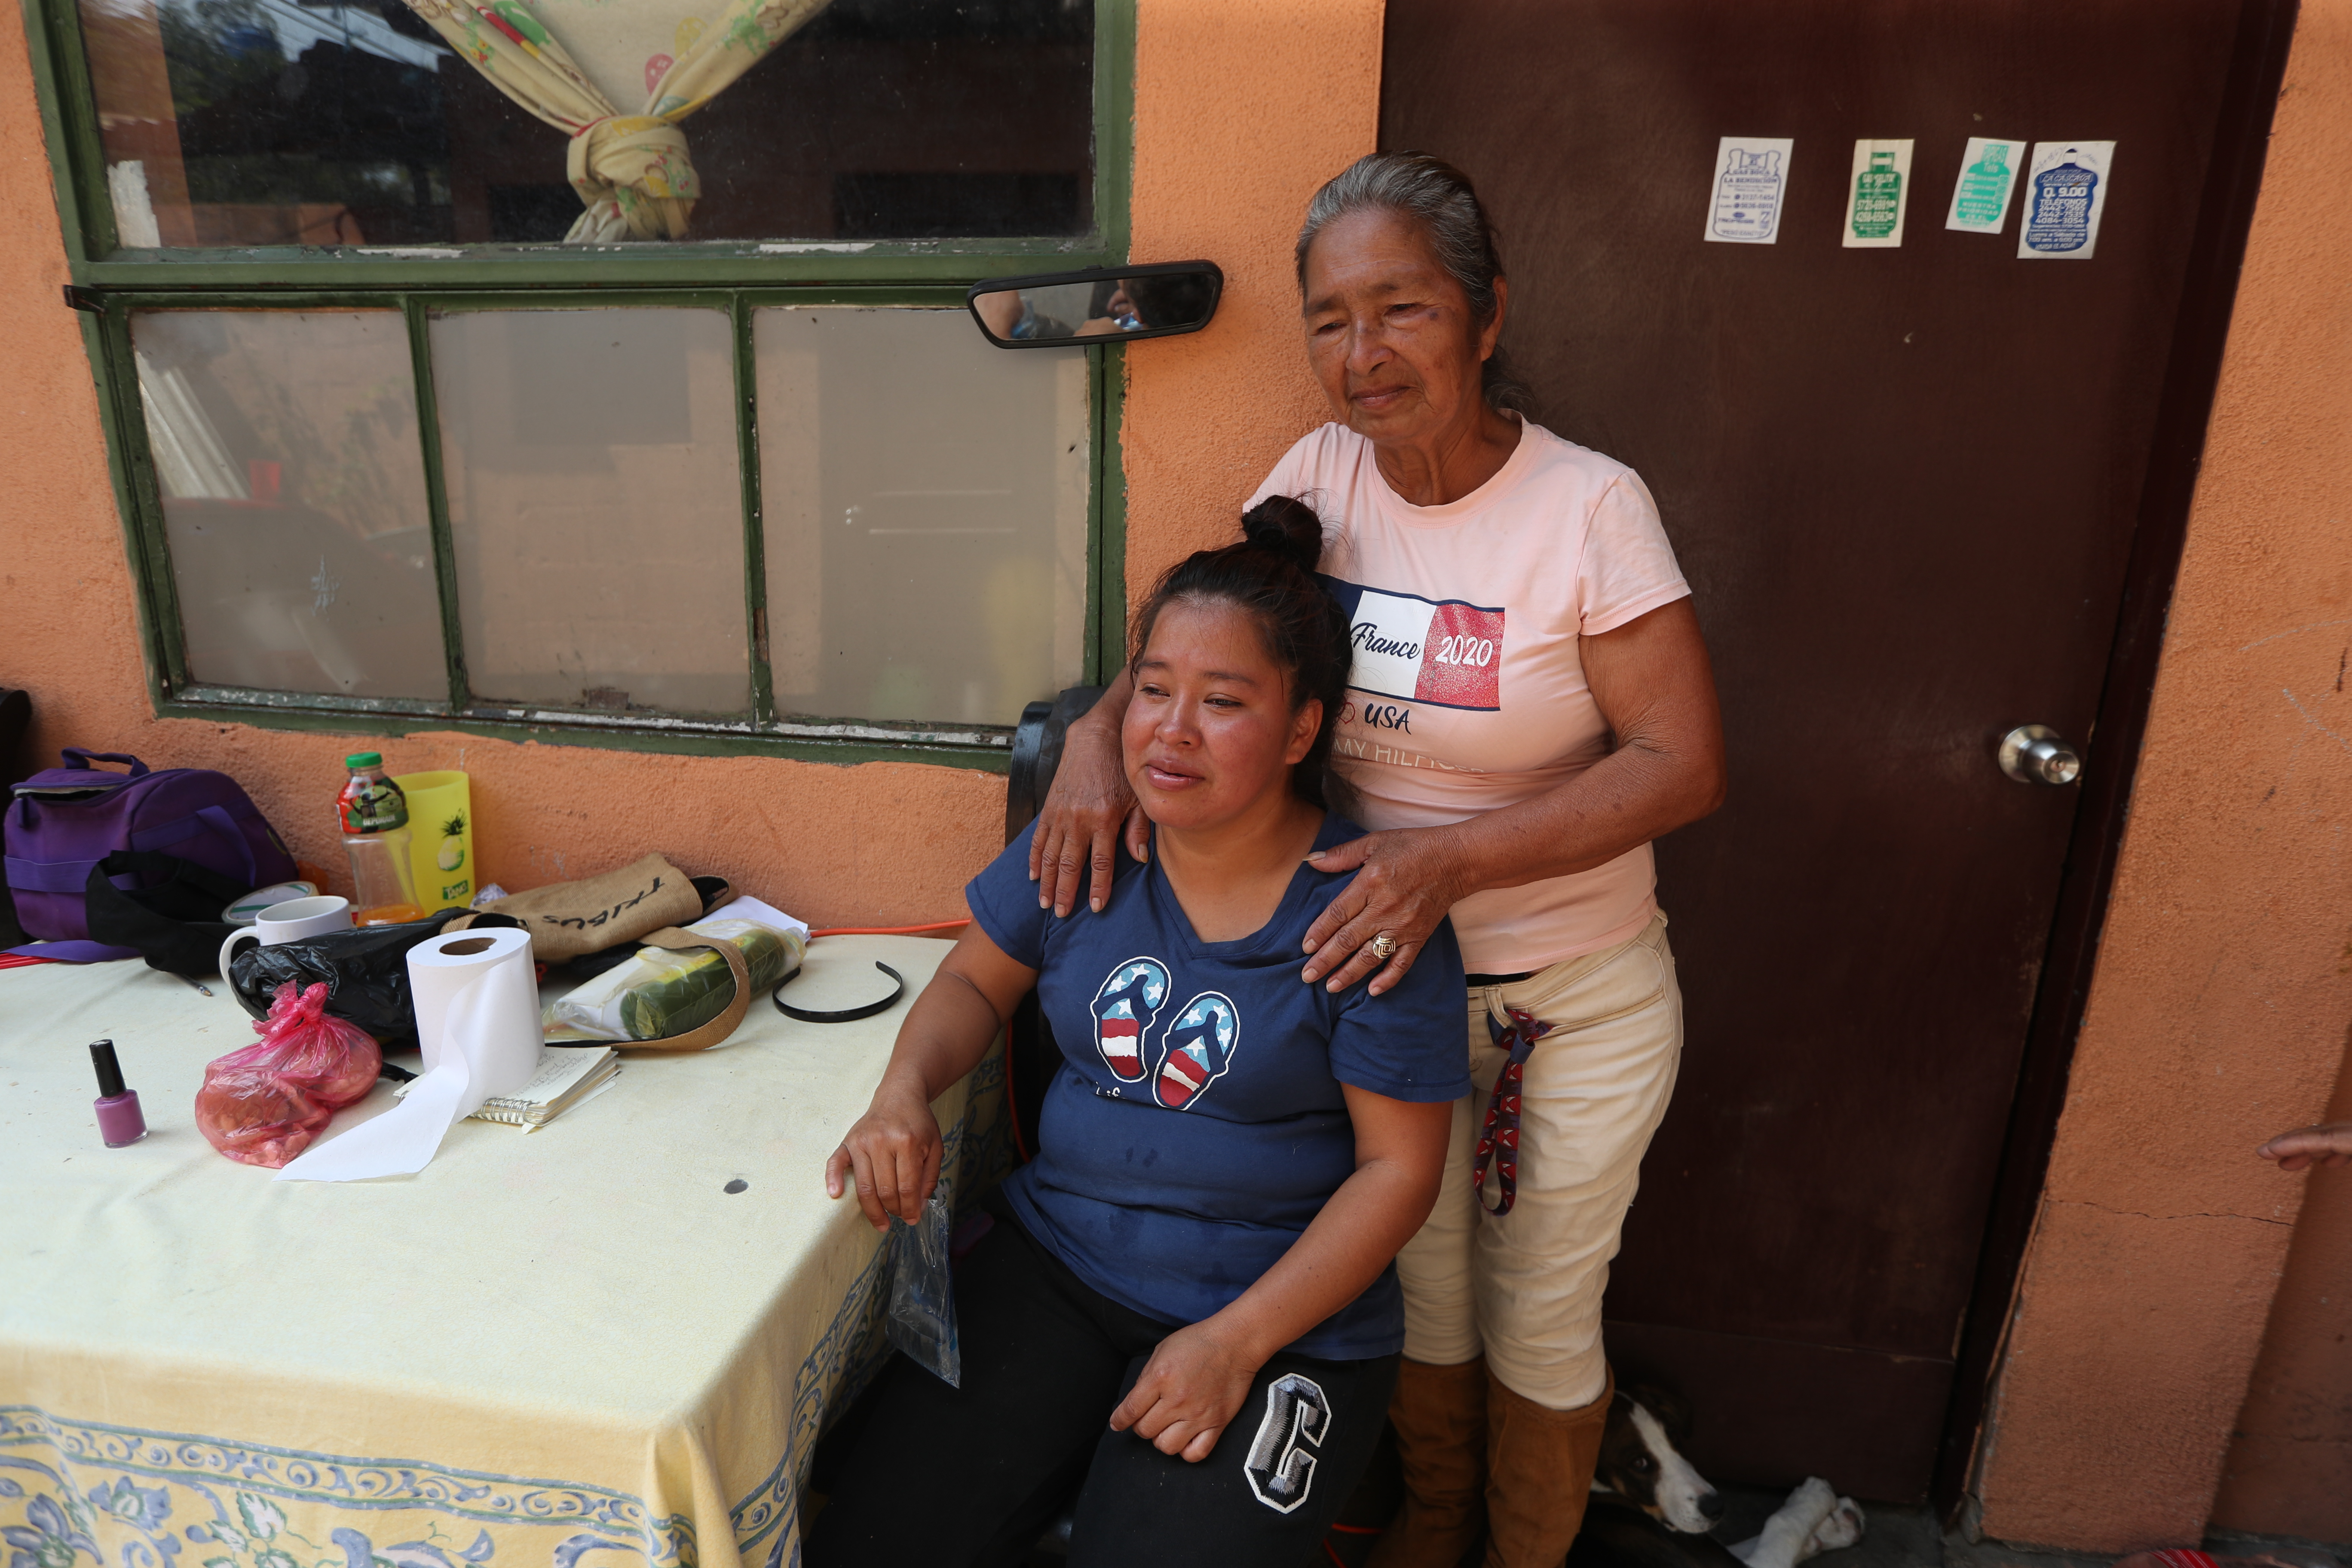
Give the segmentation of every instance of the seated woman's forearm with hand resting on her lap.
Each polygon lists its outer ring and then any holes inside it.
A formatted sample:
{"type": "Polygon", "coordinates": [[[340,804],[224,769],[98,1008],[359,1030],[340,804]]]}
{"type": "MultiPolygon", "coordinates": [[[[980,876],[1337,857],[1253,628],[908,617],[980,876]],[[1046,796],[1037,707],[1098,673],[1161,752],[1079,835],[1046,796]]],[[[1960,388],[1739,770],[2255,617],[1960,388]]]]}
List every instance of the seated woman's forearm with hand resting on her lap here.
{"type": "Polygon", "coordinates": [[[1355,1173],[1282,1262],[1216,1316],[1160,1342],[1110,1429],[1136,1429],[1195,1465],[1249,1396],[1265,1361],[1381,1276],[1437,1204],[1454,1105],[1411,1105],[1341,1084],[1355,1121],[1355,1173]]]}

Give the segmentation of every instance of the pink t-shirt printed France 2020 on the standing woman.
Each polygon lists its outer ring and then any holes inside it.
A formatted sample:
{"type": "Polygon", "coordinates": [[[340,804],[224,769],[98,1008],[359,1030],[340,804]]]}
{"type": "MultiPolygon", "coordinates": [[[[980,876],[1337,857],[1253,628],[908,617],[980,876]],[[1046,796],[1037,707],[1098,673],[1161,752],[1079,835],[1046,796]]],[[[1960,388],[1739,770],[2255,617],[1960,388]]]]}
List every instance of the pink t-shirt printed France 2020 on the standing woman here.
{"type": "MultiPolygon", "coordinates": [[[[1331,762],[1367,827],[1432,827],[1510,806],[1609,755],[1578,637],[1689,595],[1658,505],[1618,461],[1524,423],[1486,484],[1411,505],[1345,425],[1275,463],[1251,505],[1301,496],[1324,527],[1322,571],[1355,625],[1331,762]]],[[[1472,973],[1543,969],[1642,933],[1656,910],[1649,844],[1573,877],[1454,905],[1472,973]]]]}

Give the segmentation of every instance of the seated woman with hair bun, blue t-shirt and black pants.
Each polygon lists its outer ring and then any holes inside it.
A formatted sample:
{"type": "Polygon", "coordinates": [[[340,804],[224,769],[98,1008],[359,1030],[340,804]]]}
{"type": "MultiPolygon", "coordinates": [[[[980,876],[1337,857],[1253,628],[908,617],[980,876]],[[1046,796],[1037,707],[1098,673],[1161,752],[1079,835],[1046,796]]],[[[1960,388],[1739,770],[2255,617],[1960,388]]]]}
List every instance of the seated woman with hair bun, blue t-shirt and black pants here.
{"type": "Polygon", "coordinates": [[[882,1375],[809,1537],[816,1568],[1016,1563],[1082,1486],[1070,1561],[1296,1568],[1371,1458],[1397,1375],[1397,1248],[1437,1199],[1468,1093],[1461,954],[1439,926],[1385,994],[1298,980],[1345,884],[1305,860],[1348,621],[1289,498],[1136,616],[1127,778],[1155,832],[1105,912],[1056,919],[1028,839],[826,1164],[877,1225],[938,1180],[931,1098],[1035,985],[1061,1041],[1037,1159],[957,1267],[962,1387],[882,1375]]]}

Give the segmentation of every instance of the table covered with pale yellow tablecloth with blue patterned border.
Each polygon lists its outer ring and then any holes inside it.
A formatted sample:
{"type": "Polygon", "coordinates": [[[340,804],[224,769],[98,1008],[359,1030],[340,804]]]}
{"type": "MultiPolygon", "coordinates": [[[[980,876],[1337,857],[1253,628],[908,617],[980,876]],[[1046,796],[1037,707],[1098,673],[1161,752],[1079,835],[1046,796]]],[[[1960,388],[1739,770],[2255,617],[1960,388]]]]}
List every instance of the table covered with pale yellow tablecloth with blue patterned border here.
{"type": "MultiPolygon", "coordinates": [[[[715,1051],[630,1053],[546,1126],[461,1121],[372,1182],[278,1182],[195,1131],[205,1063],[254,1039],[221,983],[0,973],[9,1568],[795,1563],[823,1420],[887,1354],[889,1253],[823,1159],[946,952],[821,940],[811,999],[875,959],[908,994],[858,1023],[760,997],[715,1051]],[[96,1037],[132,1147],[99,1140],[96,1037]]],[[[934,1105],[957,1197],[1007,1161],[1002,1084],[990,1053],[934,1105]]]]}

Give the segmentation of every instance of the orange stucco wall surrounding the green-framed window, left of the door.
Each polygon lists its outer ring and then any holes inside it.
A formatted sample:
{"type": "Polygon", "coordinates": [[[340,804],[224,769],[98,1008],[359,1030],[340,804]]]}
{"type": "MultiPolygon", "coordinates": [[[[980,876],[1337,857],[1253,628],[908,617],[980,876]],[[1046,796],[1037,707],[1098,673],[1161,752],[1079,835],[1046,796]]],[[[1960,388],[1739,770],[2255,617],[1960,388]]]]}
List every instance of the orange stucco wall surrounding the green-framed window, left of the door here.
{"type": "MultiPolygon", "coordinates": [[[[1303,430],[1289,235],[1317,181],[1371,148],[1378,0],[1141,0],[1138,259],[1211,256],[1225,308],[1188,339],[1129,350],[1129,562],[1148,581],[1218,527],[1303,430]]],[[[962,914],[962,884],[1002,844],[997,773],[823,766],[513,745],[461,733],[388,741],[158,719],[106,477],[78,317],[59,303],[59,237],[16,0],[0,0],[0,686],[38,705],[33,748],[122,750],[212,766],[254,795],[294,851],[339,875],[329,802],[341,757],[473,776],[482,875],[536,886],[647,849],[717,872],[818,924],[962,914]]]]}

